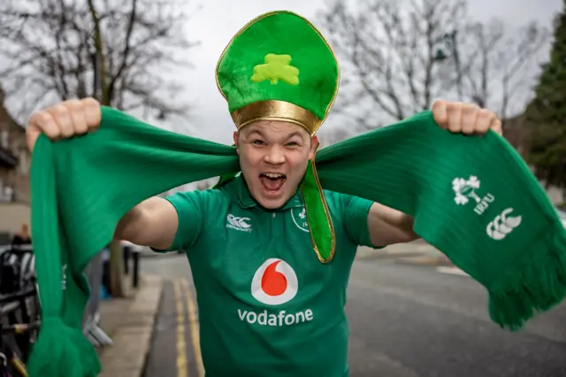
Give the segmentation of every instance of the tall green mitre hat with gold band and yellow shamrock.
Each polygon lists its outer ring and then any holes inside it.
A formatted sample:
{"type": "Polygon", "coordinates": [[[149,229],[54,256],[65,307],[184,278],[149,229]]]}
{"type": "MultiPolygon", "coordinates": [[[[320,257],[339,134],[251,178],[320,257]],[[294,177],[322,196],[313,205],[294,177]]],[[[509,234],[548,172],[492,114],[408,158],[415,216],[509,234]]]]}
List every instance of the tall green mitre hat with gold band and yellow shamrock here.
{"type": "Polygon", "coordinates": [[[340,81],[333,50],[307,19],[293,12],[265,13],[228,43],[217,66],[218,89],[240,129],[285,120],[317,131],[340,81]]]}

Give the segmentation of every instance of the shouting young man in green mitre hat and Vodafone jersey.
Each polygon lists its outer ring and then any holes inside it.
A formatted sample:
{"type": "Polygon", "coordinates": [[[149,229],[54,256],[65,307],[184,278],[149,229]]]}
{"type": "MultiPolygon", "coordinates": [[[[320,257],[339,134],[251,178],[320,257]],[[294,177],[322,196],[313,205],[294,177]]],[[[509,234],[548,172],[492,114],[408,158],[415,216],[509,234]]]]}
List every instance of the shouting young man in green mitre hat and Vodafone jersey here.
{"type": "MultiPolygon", "coordinates": [[[[325,191],[335,253],[321,263],[313,250],[299,184],[338,72],[332,50],[305,19],[272,12],[251,21],[217,68],[241,174],[219,188],[149,198],[119,221],[117,239],[187,253],[207,376],[348,375],[344,304],[356,248],[417,239],[408,215],[325,191]]],[[[432,112],[452,132],[501,134],[493,112],[472,104],[437,101],[432,112]]],[[[89,98],[36,112],[29,148],[40,133],[56,140],[85,134],[100,114],[89,98]]]]}

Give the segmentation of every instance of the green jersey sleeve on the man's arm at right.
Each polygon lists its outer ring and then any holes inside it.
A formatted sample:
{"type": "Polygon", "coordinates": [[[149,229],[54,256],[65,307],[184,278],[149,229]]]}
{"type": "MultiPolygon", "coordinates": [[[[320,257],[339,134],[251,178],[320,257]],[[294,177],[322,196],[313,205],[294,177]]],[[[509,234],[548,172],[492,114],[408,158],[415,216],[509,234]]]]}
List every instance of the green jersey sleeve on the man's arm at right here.
{"type": "Polygon", "coordinates": [[[381,249],[373,246],[368,228],[368,215],[371,208],[371,200],[357,196],[342,195],[342,219],[346,233],[352,242],[358,246],[368,246],[373,249],[381,249]]]}

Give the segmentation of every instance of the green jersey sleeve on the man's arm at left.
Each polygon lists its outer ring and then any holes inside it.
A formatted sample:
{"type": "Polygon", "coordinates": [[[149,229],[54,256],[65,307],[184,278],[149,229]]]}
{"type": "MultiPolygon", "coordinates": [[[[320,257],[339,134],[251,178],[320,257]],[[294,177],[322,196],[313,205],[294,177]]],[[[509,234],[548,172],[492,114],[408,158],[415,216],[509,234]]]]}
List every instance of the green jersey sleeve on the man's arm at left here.
{"type": "Polygon", "coordinates": [[[171,196],[165,196],[164,199],[175,207],[179,217],[179,227],[177,227],[177,233],[171,248],[155,251],[187,251],[195,245],[203,229],[202,191],[178,192],[171,196]]]}

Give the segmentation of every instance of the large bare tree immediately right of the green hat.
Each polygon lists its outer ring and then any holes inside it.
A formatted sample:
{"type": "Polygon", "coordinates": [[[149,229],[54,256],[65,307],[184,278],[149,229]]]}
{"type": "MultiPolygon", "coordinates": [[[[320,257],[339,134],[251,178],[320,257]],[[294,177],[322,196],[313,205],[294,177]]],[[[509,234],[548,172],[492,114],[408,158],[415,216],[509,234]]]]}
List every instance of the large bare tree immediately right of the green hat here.
{"type": "Polygon", "coordinates": [[[427,109],[443,84],[439,43],[464,11],[460,0],[361,0],[355,10],[345,2],[329,4],[320,19],[340,58],[346,91],[336,109],[363,128],[427,109]]]}

